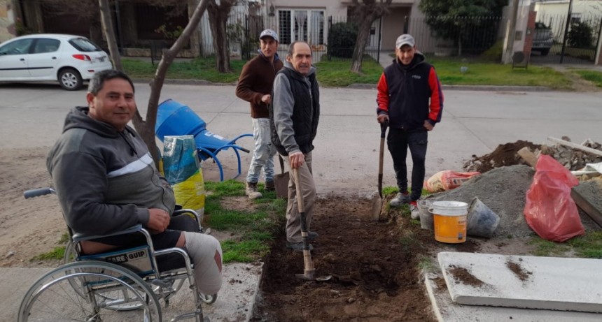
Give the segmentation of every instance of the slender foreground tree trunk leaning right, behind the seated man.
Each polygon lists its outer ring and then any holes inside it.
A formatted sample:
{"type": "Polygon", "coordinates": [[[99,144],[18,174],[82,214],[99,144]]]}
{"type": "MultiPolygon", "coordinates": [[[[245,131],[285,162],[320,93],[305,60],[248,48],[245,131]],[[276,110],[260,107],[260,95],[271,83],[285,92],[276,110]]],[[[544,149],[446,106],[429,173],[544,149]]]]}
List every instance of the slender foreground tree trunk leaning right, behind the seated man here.
{"type": "Polygon", "coordinates": [[[151,80],[151,95],[148,98],[146,121],[142,119],[139,110],[136,110],[136,114],[132,118],[134,129],[136,129],[136,131],[140,134],[142,140],[146,142],[148,151],[151,152],[153,161],[155,161],[157,168],[159,167],[159,149],[157,147],[157,142],[155,141],[155,124],[157,123],[157,110],[159,98],[161,96],[161,89],[163,87],[163,83],[165,82],[165,74],[167,73],[169,66],[174,61],[176,54],[178,54],[182,47],[188,43],[188,41],[190,41],[190,35],[192,35],[197,29],[208,4],[209,0],[199,1],[197,8],[195,9],[195,13],[193,13],[192,17],[190,17],[188,24],[186,24],[186,28],[184,28],[182,34],[178,37],[174,45],[172,45],[172,47],[163,54],[161,61],[159,61],[157,71],[155,71],[155,78],[151,80]]]}

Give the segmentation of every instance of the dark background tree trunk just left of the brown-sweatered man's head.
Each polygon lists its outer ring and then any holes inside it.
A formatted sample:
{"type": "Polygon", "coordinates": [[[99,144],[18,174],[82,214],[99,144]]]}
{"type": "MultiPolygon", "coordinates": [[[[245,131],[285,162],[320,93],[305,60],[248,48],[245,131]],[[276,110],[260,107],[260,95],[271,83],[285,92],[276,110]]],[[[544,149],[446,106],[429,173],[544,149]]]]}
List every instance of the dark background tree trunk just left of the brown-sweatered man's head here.
{"type": "Polygon", "coordinates": [[[209,13],[209,26],[213,36],[213,45],[216,52],[216,69],[220,73],[232,72],[230,66],[230,53],[228,52],[228,15],[236,0],[209,0],[207,13],[209,13]]]}

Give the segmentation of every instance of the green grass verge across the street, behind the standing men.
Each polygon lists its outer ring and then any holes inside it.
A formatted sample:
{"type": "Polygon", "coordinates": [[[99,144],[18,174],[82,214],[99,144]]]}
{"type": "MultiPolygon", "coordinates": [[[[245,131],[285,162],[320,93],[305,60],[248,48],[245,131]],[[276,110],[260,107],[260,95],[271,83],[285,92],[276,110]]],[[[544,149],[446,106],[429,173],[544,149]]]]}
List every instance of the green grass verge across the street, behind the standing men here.
{"type": "MultiPolygon", "coordinates": [[[[563,73],[549,67],[531,65],[528,69],[514,68],[512,65],[498,64],[485,59],[456,57],[427,57],[433,64],[443,85],[519,85],[543,86],[552,89],[570,89],[571,82],[563,73]],[[461,66],[468,71],[462,73],[461,66]]],[[[232,73],[218,73],[214,57],[200,57],[190,61],[175,61],[169,66],[166,78],[182,80],[207,80],[215,83],[232,84],[237,81],[246,61],[232,60],[232,73]]],[[[123,59],[123,67],[132,78],[153,78],[157,65],[150,61],[123,59]]],[[[351,84],[376,85],[383,68],[371,57],[362,64],[362,73],[350,71],[351,60],[319,61],[316,64],[317,78],[324,87],[345,87],[351,84]]],[[[583,78],[602,86],[602,73],[578,71],[583,78]]]]}

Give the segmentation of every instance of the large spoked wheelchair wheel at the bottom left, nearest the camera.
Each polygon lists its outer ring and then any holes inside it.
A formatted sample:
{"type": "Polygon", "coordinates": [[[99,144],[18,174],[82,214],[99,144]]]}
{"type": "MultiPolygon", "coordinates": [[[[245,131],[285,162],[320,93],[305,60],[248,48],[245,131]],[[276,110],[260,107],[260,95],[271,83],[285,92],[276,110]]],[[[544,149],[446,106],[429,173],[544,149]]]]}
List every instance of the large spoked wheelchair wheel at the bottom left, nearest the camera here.
{"type": "Polygon", "coordinates": [[[18,322],[161,321],[151,288],[134,272],[112,263],[69,263],[38,279],[23,298],[18,322]],[[124,312],[125,307],[137,308],[124,312]]]}

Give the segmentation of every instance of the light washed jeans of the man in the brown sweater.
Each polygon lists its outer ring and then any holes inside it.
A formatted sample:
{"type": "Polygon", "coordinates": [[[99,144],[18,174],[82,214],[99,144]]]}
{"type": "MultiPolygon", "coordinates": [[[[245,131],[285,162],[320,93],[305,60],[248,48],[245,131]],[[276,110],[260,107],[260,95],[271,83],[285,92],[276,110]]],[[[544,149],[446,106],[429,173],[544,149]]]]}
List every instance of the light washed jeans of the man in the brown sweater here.
{"type": "Polygon", "coordinates": [[[274,181],[274,155],[276,149],[269,137],[269,119],[253,119],[253,159],[248,166],[246,182],[257,183],[263,169],[265,181],[274,181]]]}

